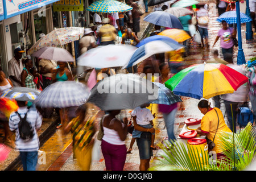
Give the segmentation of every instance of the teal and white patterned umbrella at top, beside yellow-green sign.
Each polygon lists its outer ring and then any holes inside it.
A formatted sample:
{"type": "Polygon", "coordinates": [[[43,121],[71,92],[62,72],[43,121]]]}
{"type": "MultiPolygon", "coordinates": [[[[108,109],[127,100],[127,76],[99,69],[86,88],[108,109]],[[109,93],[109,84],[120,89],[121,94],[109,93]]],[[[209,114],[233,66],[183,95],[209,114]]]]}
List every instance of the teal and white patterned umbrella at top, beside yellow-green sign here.
{"type": "Polygon", "coordinates": [[[97,13],[117,13],[132,9],[133,7],[116,0],[98,0],[93,2],[86,10],[97,13]]]}

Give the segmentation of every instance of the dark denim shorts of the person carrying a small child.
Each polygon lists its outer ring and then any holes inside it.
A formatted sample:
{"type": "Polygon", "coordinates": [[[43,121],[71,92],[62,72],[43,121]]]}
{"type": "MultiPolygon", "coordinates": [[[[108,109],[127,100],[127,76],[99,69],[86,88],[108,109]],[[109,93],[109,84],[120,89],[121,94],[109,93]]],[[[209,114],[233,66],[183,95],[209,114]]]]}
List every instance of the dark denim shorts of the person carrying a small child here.
{"type": "Polygon", "coordinates": [[[143,132],[141,138],[136,138],[136,143],[139,148],[139,159],[150,159],[153,156],[151,145],[151,133],[143,132]]]}

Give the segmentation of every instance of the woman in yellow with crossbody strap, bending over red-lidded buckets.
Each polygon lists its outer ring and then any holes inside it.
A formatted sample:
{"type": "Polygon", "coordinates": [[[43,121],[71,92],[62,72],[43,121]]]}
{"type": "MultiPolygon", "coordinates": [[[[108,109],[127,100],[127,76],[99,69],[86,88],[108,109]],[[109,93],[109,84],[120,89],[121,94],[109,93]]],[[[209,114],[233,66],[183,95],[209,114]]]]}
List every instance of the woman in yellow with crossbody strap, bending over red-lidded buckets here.
{"type": "Polygon", "coordinates": [[[201,100],[197,106],[201,113],[204,114],[204,117],[201,119],[201,126],[196,131],[200,135],[205,135],[207,140],[214,142],[215,146],[212,148],[212,151],[216,152],[218,159],[220,156],[223,156],[221,154],[223,150],[221,148],[220,136],[224,134],[222,133],[223,131],[232,131],[226,125],[220,109],[210,107],[210,102],[207,100],[201,100]]]}

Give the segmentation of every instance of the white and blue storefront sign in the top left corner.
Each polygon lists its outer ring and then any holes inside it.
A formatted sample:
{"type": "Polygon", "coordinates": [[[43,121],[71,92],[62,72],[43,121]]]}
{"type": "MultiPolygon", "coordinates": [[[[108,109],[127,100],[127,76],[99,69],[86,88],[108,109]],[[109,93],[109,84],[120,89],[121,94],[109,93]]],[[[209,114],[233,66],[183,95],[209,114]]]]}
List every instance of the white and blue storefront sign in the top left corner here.
{"type": "Polygon", "coordinates": [[[5,18],[25,13],[59,0],[4,0],[5,18]]]}

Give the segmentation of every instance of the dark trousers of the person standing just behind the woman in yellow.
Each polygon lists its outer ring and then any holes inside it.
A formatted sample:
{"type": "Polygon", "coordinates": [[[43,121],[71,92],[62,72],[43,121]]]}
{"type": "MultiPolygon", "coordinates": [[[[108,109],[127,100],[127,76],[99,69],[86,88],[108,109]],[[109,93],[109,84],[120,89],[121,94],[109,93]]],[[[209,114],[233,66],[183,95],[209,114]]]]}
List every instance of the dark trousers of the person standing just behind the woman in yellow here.
{"type": "Polygon", "coordinates": [[[230,101],[226,101],[224,100],[224,104],[226,107],[226,116],[228,117],[228,122],[229,122],[229,129],[236,133],[236,123],[237,123],[237,106],[238,106],[238,102],[230,102],[230,101]],[[230,104],[232,104],[232,111],[231,111],[231,106],[230,104]],[[233,112],[233,119],[234,119],[234,131],[233,131],[233,121],[232,121],[232,112],[233,112]]]}

